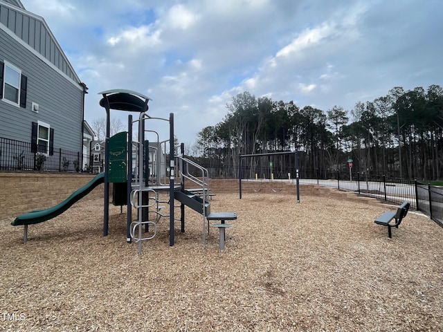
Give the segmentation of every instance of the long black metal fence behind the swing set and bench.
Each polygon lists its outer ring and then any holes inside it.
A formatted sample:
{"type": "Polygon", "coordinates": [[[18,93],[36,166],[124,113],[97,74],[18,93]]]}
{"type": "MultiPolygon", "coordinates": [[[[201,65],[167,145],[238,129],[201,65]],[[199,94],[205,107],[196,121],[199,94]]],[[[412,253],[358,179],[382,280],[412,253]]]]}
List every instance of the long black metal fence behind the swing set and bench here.
{"type": "MultiPolygon", "coordinates": [[[[210,178],[238,178],[238,167],[204,165],[210,178]]],[[[316,184],[323,187],[336,187],[339,190],[356,192],[400,205],[409,201],[411,208],[431,217],[443,227],[443,188],[419,183],[415,180],[404,180],[389,176],[377,176],[370,173],[341,172],[337,170],[318,169],[273,169],[242,165],[242,178],[250,181],[274,181],[275,186],[281,181],[295,182],[298,176],[300,184],[316,184]]]]}

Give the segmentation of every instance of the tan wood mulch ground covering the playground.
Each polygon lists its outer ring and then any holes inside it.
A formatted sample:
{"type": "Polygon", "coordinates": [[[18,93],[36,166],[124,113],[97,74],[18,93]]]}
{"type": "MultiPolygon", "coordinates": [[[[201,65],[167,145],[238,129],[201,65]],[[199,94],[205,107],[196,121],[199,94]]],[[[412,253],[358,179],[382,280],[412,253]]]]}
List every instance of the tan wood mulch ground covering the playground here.
{"type": "Polygon", "coordinates": [[[374,224],[388,207],[365,201],[211,204],[238,214],[223,252],[188,209],[175,246],[163,219],[142,255],[119,207],[102,237],[102,199],[30,225],[27,243],[0,221],[0,331],[443,331],[443,229],[428,217],[411,211],[388,239],[374,224]]]}

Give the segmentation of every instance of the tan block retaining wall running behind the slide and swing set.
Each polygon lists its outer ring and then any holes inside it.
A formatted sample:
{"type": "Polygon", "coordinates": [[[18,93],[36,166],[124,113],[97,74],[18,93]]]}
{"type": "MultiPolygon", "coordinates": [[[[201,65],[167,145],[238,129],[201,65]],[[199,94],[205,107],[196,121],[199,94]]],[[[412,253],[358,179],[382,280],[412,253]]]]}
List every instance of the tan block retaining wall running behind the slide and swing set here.
{"type": "MultiPolygon", "coordinates": [[[[0,173],[0,220],[10,219],[32,210],[50,208],[57,205],[86,185],[95,174],[50,174],[50,173],[0,173]]],[[[238,193],[237,179],[210,179],[211,192],[214,194],[238,193]]],[[[186,187],[195,187],[186,184],[186,187]]],[[[262,193],[296,194],[296,186],[290,183],[271,183],[264,181],[252,183],[242,181],[242,194],[262,193]]],[[[98,185],[84,199],[103,197],[104,185],[98,185]]],[[[112,193],[111,186],[109,193],[112,193]]],[[[343,196],[333,188],[318,185],[300,185],[300,195],[343,196]]],[[[351,194],[351,193],[350,193],[351,194]]],[[[352,194],[355,196],[355,194],[352,194]]]]}

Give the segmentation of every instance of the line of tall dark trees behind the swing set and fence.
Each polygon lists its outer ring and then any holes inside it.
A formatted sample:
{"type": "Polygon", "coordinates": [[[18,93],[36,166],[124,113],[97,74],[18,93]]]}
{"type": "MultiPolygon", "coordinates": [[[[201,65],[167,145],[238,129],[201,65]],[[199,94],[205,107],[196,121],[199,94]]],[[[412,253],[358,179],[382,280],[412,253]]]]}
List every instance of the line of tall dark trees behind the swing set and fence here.
{"type": "Polygon", "coordinates": [[[352,172],[443,178],[443,88],[438,85],[408,91],[397,86],[351,110],[300,109],[292,101],[255,98],[247,91],[226,107],[221,122],[197,135],[195,157],[206,165],[235,167],[238,154],[298,150],[300,169],[311,172],[346,170],[352,160],[352,172]]]}

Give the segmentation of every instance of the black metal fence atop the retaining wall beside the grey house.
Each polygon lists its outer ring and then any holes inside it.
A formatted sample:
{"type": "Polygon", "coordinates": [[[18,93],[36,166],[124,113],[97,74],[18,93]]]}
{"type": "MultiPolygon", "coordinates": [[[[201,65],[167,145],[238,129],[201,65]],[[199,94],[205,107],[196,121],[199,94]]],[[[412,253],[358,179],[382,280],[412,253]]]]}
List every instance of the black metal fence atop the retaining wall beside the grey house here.
{"type": "Polygon", "coordinates": [[[44,154],[33,152],[30,142],[0,137],[0,170],[83,172],[85,163],[89,163],[89,156],[80,151],[54,148],[53,154],[44,154]]]}

